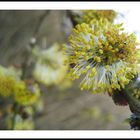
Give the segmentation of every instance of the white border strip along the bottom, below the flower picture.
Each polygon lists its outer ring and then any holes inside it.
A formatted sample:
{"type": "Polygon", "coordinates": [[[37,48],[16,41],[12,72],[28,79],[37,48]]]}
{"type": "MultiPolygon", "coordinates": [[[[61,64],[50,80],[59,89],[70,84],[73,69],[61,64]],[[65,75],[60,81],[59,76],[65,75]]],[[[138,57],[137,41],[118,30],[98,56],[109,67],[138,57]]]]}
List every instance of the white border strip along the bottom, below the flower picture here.
{"type": "Polygon", "coordinates": [[[140,138],[139,131],[130,130],[60,130],[60,131],[1,131],[1,138],[140,138]]]}

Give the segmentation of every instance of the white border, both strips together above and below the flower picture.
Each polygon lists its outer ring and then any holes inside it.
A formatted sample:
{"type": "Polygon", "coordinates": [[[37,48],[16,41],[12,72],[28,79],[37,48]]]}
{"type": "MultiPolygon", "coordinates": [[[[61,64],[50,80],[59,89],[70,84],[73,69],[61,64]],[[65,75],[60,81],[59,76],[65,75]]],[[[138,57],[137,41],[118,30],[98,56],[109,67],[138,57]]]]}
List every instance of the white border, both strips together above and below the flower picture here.
{"type": "MultiPolygon", "coordinates": [[[[140,2],[0,2],[0,10],[140,9],[140,2]]],[[[139,17],[138,17],[139,20],[139,17]]],[[[129,117],[129,116],[128,116],[129,117]]],[[[94,124],[93,124],[94,125],[94,124]]],[[[0,131],[1,138],[139,138],[139,131],[0,131]]]]}

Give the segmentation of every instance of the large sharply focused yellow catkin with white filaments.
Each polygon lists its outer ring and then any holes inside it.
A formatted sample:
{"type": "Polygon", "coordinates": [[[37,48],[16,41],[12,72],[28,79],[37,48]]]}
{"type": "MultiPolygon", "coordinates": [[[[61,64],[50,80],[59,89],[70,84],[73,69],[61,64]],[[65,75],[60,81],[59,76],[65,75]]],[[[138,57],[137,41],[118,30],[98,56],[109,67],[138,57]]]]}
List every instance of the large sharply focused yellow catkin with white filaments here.
{"type": "Polygon", "coordinates": [[[69,76],[72,80],[83,76],[81,90],[120,90],[138,72],[137,44],[134,34],[122,31],[122,24],[103,18],[78,24],[66,46],[67,63],[74,64],[69,76]]]}

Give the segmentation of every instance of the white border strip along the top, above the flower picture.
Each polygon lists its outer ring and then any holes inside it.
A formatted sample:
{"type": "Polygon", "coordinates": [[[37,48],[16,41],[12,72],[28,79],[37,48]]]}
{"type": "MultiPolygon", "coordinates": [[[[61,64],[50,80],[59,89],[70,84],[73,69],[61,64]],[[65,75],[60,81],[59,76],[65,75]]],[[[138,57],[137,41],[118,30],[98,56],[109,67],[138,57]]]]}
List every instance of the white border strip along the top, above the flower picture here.
{"type": "Polygon", "coordinates": [[[140,2],[0,2],[1,10],[139,9],[140,2]]]}

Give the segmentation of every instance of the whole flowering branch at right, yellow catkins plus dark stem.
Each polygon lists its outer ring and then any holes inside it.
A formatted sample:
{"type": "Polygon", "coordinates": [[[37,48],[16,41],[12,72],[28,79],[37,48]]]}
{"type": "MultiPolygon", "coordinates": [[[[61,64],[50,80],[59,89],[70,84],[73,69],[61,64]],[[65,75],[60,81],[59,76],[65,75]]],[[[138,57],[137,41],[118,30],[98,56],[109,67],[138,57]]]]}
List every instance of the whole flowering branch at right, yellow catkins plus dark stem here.
{"type": "Polygon", "coordinates": [[[140,128],[139,43],[123,24],[113,24],[114,11],[83,11],[69,36],[65,53],[71,66],[68,76],[83,77],[81,90],[108,93],[115,104],[134,113],[131,128],[140,128]],[[135,117],[134,117],[135,116],[135,117]]]}

